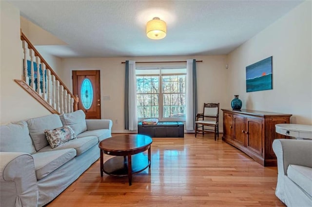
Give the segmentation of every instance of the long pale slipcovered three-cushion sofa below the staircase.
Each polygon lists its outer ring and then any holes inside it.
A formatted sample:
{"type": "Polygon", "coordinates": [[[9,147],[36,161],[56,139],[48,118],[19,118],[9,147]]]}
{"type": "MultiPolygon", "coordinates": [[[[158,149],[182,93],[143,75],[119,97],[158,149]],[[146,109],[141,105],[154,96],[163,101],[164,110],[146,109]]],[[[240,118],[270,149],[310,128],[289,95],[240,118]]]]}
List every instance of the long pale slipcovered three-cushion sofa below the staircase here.
{"type": "Polygon", "coordinates": [[[0,126],[0,206],[41,207],[99,158],[111,120],[85,120],[83,111],[0,126]],[[69,125],[77,135],[51,148],[43,130],[69,125]]]}

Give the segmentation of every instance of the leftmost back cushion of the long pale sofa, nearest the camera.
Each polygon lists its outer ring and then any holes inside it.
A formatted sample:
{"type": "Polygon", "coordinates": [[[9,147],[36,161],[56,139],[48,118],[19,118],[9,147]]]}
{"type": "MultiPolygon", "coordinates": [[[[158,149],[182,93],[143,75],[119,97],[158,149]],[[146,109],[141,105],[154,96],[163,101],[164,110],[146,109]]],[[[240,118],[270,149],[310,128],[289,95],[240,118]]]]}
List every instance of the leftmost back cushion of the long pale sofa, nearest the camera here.
{"type": "Polygon", "coordinates": [[[26,121],[0,126],[0,152],[36,153],[26,121]]]}

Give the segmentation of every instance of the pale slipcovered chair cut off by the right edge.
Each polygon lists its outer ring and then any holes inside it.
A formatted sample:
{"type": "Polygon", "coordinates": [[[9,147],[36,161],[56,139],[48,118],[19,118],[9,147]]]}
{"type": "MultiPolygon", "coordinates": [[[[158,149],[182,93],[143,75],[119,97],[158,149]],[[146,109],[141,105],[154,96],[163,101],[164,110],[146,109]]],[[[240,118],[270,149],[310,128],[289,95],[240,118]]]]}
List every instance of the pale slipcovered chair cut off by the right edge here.
{"type": "Polygon", "coordinates": [[[275,195],[288,207],[312,207],[312,140],[274,139],[275,195]]]}

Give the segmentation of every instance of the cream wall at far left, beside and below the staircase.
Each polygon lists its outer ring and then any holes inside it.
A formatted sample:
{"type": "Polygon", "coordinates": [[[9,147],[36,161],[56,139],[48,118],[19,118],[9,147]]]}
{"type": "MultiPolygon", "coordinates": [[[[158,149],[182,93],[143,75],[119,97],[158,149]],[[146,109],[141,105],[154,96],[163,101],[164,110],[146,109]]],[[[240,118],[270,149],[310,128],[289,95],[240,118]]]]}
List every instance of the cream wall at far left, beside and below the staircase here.
{"type": "Polygon", "coordinates": [[[14,82],[22,75],[20,11],[0,1],[0,15],[0,124],[50,114],[14,82]]]}

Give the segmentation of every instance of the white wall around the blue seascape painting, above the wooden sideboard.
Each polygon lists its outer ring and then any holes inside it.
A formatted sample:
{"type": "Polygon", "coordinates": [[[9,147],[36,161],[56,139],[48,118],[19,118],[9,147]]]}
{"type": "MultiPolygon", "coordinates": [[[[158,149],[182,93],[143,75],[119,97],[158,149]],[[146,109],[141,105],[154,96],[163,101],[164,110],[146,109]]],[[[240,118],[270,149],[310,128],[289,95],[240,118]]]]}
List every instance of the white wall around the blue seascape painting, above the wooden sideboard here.
{"type": "Polygon", "coordinates": [[[305,1],[228,55],[230,103],[239,94],[246,109],[292,114],[312,124],[312,2],[305,1]],[[273,56],[273,90],[246,92],[246,66],[273,56]]]}

